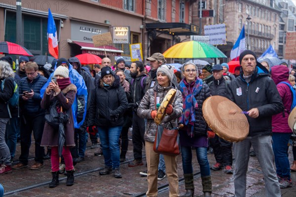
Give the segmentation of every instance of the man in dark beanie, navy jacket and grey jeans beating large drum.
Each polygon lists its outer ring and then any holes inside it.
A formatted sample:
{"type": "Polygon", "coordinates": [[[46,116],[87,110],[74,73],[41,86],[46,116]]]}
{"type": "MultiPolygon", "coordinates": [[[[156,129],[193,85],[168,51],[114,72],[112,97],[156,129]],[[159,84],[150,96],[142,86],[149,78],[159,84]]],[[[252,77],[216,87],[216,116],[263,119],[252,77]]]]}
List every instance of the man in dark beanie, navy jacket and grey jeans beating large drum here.
{"type": "MultiPolygon", "coordinates": [[[[253,51],[240,54],[240,76],[227,86],[228,98],[246,111],[250,129],[246,139],[233,144],[235,169],[235,197],[246,196],[249,152],[253,146],[261,166],[266,197],[280,197],[281,190],[274,167],[272,150],[272,115],[284,110],[284,105],[275,83],[268,77],[267,69],[257,62],[253,51]]],[[[237,111],[229,110],[230,114],[237,111]]]]}

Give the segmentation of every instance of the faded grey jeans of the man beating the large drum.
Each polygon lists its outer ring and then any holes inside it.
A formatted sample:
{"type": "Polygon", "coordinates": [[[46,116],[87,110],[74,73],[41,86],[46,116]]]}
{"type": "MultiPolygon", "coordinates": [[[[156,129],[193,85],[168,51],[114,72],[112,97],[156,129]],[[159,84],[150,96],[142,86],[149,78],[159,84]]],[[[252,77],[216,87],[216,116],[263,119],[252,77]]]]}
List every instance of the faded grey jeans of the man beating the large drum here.
{"type": "Polygon", "coordinates": [[[247,137],[243,141],[233,143],[235,157],[234,192],[235,197],[245,197],[247,189],[247,171],[251,145],[264,174],[265,196],[280,197],[281,189],[274,168],[274,155],[270,135],[247,137]]]}

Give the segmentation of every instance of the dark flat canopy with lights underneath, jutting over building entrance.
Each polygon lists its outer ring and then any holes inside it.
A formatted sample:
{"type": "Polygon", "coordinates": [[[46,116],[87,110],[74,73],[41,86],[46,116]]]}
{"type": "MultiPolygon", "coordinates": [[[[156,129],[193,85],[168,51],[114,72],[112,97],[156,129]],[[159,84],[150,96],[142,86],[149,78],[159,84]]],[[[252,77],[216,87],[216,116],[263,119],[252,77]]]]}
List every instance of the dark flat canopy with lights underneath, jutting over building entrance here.
{"type": "Polygon", "coordinates": [[[198,26],[186,23],[146,23],[148,30],[172,35],[198,35],[198,26]]]}

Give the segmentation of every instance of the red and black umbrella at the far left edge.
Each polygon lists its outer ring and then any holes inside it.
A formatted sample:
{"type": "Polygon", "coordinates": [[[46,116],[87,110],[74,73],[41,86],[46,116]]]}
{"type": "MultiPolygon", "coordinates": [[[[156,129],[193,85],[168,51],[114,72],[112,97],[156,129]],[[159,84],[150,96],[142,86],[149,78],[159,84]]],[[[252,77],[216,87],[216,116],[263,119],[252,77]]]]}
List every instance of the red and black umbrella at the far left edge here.
{"type": "Polygon", "coordinates": [[[0,54],[33,56],[32,53],[25,47],[7,41],[0,42],[0,54]]]}

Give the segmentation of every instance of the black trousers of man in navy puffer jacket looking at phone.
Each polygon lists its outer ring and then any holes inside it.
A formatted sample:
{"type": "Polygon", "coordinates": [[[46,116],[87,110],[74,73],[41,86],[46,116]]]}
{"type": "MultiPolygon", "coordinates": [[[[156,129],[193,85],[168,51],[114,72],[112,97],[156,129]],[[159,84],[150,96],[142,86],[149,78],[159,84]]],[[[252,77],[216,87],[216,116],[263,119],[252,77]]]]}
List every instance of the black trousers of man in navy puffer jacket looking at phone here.
{"type": "Polygon", "coordinates": [[[27,165],[29,149],[31,146],[31,135],[33,131],[35,139],[35,162],[43,164],[44,147],[40,146],[43,129],[44,114],[38,116],[23,116],[21,118],[21,156],[20,163],[27,165]]]}

